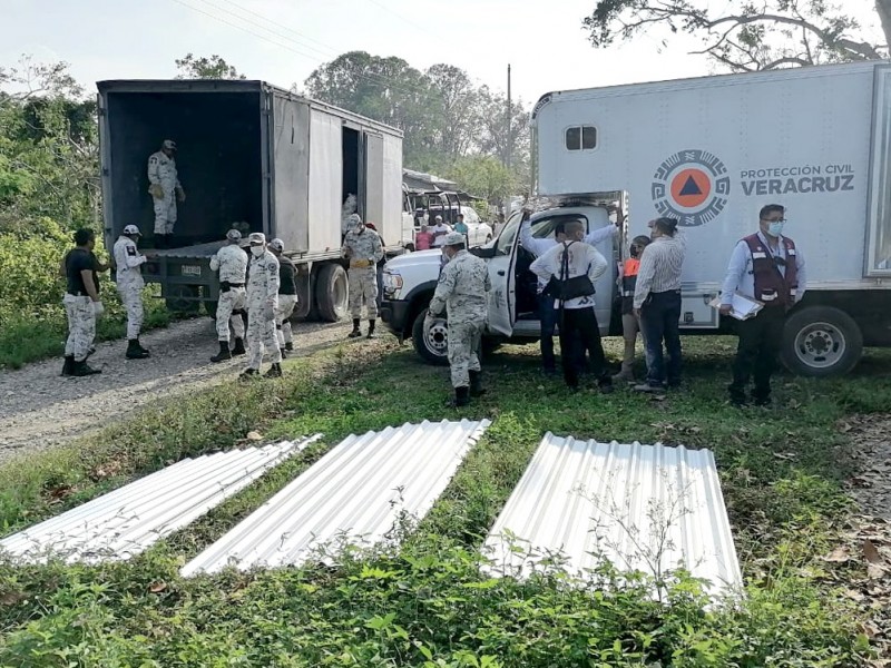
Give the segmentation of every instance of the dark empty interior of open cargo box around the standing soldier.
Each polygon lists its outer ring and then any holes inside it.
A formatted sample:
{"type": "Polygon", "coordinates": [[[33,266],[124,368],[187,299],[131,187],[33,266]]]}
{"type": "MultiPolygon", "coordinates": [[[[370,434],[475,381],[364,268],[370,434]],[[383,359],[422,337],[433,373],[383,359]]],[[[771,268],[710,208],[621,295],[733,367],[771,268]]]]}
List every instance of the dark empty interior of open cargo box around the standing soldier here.
{"type": "Polygon", "coordinates": [[[260,94],[115,92],[108,95],[114,236],[137,224],[153,245],[148,157],[164,139],[177,143],[176,167],[186,193],[174,245],[222,239],[235,223],[263,232],[260,94]]]}

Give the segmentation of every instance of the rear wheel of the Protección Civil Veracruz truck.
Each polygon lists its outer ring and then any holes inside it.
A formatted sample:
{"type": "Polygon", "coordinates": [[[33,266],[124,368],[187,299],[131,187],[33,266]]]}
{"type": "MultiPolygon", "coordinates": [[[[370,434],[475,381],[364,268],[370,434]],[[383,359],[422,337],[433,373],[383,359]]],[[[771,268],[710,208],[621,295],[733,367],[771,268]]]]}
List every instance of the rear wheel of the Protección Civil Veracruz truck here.
{"type": "Polygon", "coordinates": [[[863,334],[844,311],[810,306],[793,313],[783,332],[783,363],[803,376],[844,375],[863,354],[863,334]]]}

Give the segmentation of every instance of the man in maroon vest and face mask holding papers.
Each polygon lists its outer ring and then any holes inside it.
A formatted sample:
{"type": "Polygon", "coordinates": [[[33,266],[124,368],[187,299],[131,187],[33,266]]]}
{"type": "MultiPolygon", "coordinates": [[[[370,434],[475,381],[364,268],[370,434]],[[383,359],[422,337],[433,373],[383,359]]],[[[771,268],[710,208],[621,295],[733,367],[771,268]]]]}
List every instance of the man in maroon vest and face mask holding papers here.
{"type": "Polygon", "coordinates": [[[804,257],[795,243],[783,236],[785,208],[768,204],[758,214],[758,232],[745,237],[733,250],[721,294],[721,314],[730,315],[734,293],[764,304],[758,314],[736,323],[740,344],[733,363],[731,403],[748,403],[746,386],[754,380],[752,402],[771,403],[771,375],[783,342],[789,310],[804,296],[804,257]]]}

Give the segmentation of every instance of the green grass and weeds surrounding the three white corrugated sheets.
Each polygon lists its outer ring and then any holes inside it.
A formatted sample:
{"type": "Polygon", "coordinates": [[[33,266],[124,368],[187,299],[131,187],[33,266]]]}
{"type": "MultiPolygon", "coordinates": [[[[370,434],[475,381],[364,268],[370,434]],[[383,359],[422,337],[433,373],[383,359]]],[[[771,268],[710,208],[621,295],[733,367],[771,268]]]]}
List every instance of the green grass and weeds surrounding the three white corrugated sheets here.
{"type": "MultiPolygon", "coordinates": [[[[349,433],[443,407],[448,372],[410,348],[375,358],[343,346],[290,363],[283,381],[225,383],[127,425],[0,468],[0,525],[27,525],[187,455],[323,432],[324,443],[266,474],[131,563],[0,570],[0,665],[9,666],[854,666],[859,612],[819,557],[851,511],[842,480],[853,444],[838,420],[891,412],[891,356],[848,379],[781,377],[774,411],[724,403],[733,342],[686,342],[688,390],[664,402],[577,395],[538,374],[533,346],[484,369],[467,416],[493,424],[402,548],[339,568],[182,580],[178,567],[349,433]],[[677,573],[663,605],[645,578],[567,588],[558,576],[489,581],[477,549],[545,431],[714,450],[748,582],[737,607],[706,609],[677,573]]],[[[613,356],[618,342],[610,341],[613,356]]]]}

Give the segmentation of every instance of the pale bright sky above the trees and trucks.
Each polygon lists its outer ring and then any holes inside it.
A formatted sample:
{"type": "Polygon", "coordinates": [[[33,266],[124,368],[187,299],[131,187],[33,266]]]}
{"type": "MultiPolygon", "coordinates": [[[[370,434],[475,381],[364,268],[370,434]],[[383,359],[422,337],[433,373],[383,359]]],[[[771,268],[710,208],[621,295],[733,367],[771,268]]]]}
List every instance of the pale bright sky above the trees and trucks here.
{"type": "MultiPolygon", "coordinates": [[[[730,4],[730,0],[709,0],[730,4]]],[[[0,66],[22,53],[66,61],[90,91],[102,79],[172,78],[188,52],[217,53],[283,88],[351,50],[417,68],[447,62],[527,105],[552,90],[707,75],[698,41],[662,36],[594,49],[581,20],[596,0],[0,0],[0,66]]],[[[846,0],[875,24],[871,2],[846,0]]]]}

